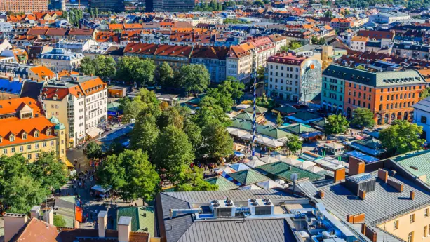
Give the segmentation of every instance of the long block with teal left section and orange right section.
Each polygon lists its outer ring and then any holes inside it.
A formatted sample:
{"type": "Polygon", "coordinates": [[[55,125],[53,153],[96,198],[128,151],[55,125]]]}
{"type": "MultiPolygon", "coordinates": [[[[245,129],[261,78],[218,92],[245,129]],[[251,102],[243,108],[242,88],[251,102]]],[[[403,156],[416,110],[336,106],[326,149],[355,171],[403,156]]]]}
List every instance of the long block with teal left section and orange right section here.
{"type": "Polygon", "coordinates": [[[412,121],[412,105],[419,102],[426,87],[426,81],[416,70],[369,72],[330,65],[323,77],[323,83],[327,84],[322,89],[323,107],[329,108],[330,103],[339,107],[343,88],[344,114],[351,117],[354,109],[365,107],[375,114],[377,124],[391,123],[396,119],[412,121]]]}

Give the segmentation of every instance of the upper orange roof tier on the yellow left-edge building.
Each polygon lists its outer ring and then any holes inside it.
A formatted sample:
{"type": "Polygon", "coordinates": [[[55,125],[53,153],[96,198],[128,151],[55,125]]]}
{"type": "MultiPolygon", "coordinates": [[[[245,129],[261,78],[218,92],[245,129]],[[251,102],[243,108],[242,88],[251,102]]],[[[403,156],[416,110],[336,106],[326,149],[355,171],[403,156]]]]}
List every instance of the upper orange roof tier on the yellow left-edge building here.
{"type": "MultiPolygon", "coordinates": [[[[25,105],[28,105],[30,108],[33,109],[33,116],[42,116],[42,107],[33,98],[13,98],[10,100],[0,100],[0,115],[4,114],[13,114],[18,112],[22,107],[25,105]]],[[[3,119],[0,119],[3,120],[3,119]]]]}

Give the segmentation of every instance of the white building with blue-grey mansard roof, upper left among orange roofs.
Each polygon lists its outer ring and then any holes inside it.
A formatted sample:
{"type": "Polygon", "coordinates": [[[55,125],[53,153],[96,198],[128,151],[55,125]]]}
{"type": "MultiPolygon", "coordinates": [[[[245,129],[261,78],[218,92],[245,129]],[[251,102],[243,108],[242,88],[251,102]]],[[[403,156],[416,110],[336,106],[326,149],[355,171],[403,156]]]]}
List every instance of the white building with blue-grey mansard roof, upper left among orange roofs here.
{"type": "Polygon", "coordinates": [[[37,59],[37,64],[44,65],[53,72],[75,71],[79,69],[81,60],[84,58],[81,53],[66,51],[62,48],[53,48],[52,51],[42,53],[37,59]]]}

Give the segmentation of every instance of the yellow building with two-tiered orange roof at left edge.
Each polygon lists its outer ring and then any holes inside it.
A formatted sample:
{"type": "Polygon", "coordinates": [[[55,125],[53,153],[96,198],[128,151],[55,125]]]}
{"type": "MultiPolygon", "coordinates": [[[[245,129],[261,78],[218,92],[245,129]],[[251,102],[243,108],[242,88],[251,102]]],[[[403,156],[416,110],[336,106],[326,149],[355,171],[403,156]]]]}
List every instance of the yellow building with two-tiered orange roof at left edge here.
{"type": "Polygon", "coordinates": [[[1,155],[22,154],[33,162],[41,152],[55,152],[58,161],[65,162],[65,143],[65,126],[58,119],[46,119],[37,100],[0,101],[1,155]]]}

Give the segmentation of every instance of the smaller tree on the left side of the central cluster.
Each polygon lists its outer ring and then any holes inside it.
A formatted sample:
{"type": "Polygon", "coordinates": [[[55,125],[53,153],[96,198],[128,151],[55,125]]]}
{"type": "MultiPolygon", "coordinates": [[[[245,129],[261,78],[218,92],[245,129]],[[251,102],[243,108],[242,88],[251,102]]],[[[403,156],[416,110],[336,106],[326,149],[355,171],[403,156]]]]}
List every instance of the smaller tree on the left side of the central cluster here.
{"type": "Polygon", "coordinates": [[[131,133],[131,147],[142,149],[143,152],[150,152],[160,130],[156,126],[156,118],[152,114],[141,114],[138,116],[133,132],[131,133]]]}

